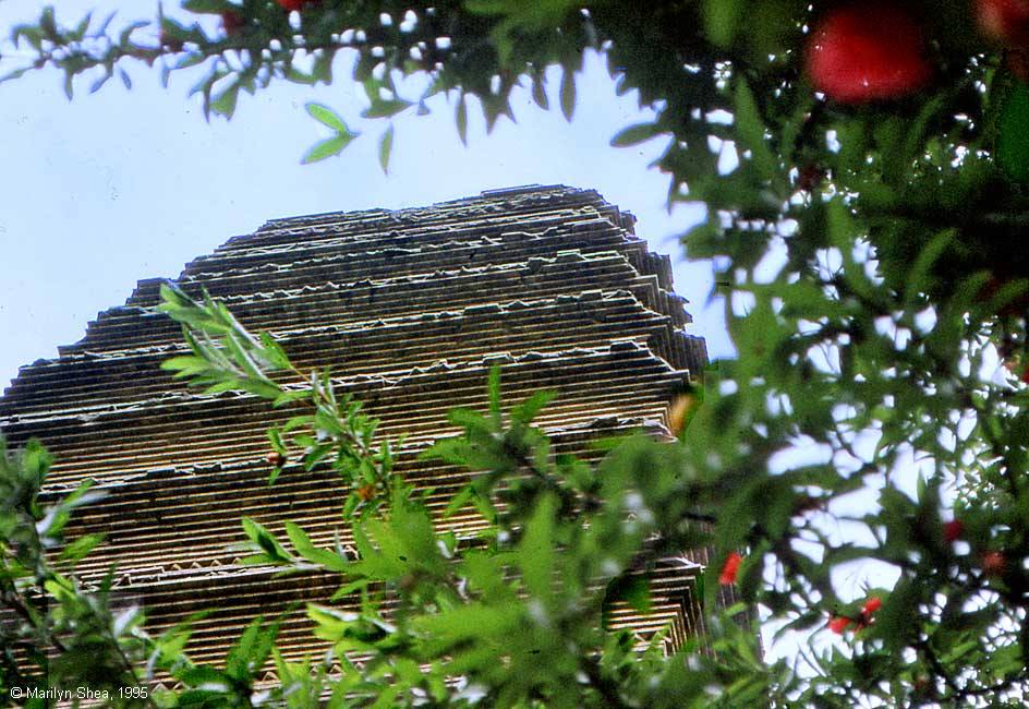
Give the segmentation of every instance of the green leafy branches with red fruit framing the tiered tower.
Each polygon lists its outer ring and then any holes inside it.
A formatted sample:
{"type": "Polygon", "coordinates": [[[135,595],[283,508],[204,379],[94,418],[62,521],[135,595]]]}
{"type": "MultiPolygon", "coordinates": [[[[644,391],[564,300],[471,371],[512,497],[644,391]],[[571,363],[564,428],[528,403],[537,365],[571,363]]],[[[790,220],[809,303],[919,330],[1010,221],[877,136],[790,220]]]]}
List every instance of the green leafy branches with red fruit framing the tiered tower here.
{"type": "MultiPolygon", "coordinates": [[[[112,32],[113,22],[65,27],[47,10],[14,29],[35,57],[12,69],[58,68],[70,95],[76,76],[102,83],[144,61],[198,74],[205,108],[226,116],[241,91],[332,81],[335,57],[346,55],[355,58],[346,64],[352,71],[338,81],[364,86],[365,116],[424,112],[428,96],[456,92],[462,135],[471,108],[487,124],[510,115],[519,83],[546,107],[553,65],[561,67],[556,96],[571,118],[576,71],[595,49],[620,89],[638,91],[656,115],[614,143],[664,140],[669,203],[707,207],[683,242],[690,257],[724,272],[739,357],[686,399],[678,444],[632,440],[598,467],[548,454],[531,424],[543,395],[505,414],[495,384],[487,416],[455,413],[465,436],[435,453],[485,471],[455,504],[488,512],[492,494],[509,497],[481,546],[435,543],[354,402],[335,400],[318,376],[290,394],[313,407],[296,422],[307,437],[274,433],[273,445],[280,455],[300,445],[312,462],[330,456],[348,480],[363,481],[348,524],[364,543],[360,560],[343,560],[313,549],[300,529],[290,529],[288,548],[246,524],[255,561],[326,566],[351,591],[385,585],[403,599],[389,620],[374,594],[356,617],[311,609],[322,637],[373,660],[341,680],[280,666],[285,686],[298,687],[286,699],[292,706],[306,706],[323,681],[340,702],[384,705],[748,706],[766,696],[800,706],[1022,706],[1029,7],[811,4],[186,0],[195,22],[177,14],[112,32]],[[409,75],[424,79],[424,93],[403,95],[409,75]],[[688,658],[669,659],[638,658],[601,629],[603,593],[594,589],[641,554],[700,543],[727,562],[709,569],[706,594],[733,581],[780,630],[835,632],[842,641],[800,650],[807,664],[794,672],[762,666],[752,636],[731,623],[712,623],[716,652],[688,648],[688,658]],[[390,545],[417,550],[408,556],[416,561],[385,563],[390,545]],[[736,550],[747,550],[741,561],[736,550]],[[870,561],[883,569],[882,587],[849,588],[854,565],[870,561]],[[548,582],[556,575],[557,587],[548,582]],[[497,638],[509,639],[510,628],[519,640],[501,650],[497,638]],[[541,648],[545,663],[533,659],[541,648]],[[457,674],[463,684],[445,682],[457,674]]],[[[308,110],[334,135],[307,159],[355,137],[331,109],[308,110]]],[[[384,167],[392,130],[382,137],[384,167]]],[[[262,369],[289,368],[274,343],[243,333],[217,303],[173,291],[166,299],[197,358],[174,369],[206,385],[282,396],[262,369]],[[241,352],[249,358],[235,359],[241,352]]],[[[39,455],[23,454],[29,462],[14,459],[5,474],[38,485],[39,455]]],[[[17,512],[0,529],[5,561],[28,556],[20,566],[8,561],[4,599],[24,592],[14,577],[46,585],[53,573],[41,542],[21,552],[15,541],[40,514],[32,494],[10,500],[17,512]],[[41,570],[25,570],[33,565],[41,570]]],[[[715,613],[714,603],[705,608],[715,613]]],[[[35,615],[23,630],[37,628],[39,647],[85,633],[53,629],[60,618],[35,615]]],[[[238,656],[264,661],[273,630],[253,628],[238,656]]],[[[132,637],[154,642],[142,630],[132,637]]],[[[209,700],[254,700],[253,662],[237,657],[214,670],[180,660],[166,666],[206,687],[209,700]]]]}

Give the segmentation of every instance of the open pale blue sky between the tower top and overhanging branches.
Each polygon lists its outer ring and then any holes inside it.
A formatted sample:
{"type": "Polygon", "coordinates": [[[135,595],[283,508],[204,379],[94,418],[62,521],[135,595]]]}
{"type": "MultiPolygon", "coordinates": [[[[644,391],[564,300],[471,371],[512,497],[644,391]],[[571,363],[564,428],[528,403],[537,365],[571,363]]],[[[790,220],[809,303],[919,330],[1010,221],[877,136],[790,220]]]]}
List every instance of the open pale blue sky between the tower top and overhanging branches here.
{"type": "MultiPolygon", "coordinates": [[[[58,20],[119,9],[117,27],[146,16],[146,7],[63,0],[58,20]]],[[[0,29],[8,35],[38,11],[36,2],[3,0],[0,29]]],[[[0,45],[0,52],[10,49],[0,45]]],[[[713,356],[731,352],[721,301],[705,308],[711,267],[687,264],[675,238],[701,213],[665,209],[666,178],[647,167],[661,141],[609,146],[646,113],[633,94],[615,95],[600,57],[586,61],[571,123],[558,110],[536,108],[528,92],[512,100],[518,122],[501,119],[488,136],[472,113],[468,147],[444,97],[429,104],[429,116],[400,117],[388,176],[377,161],[386,124],[360,120],[364,99],[346,81],[273,85],[243,95],[231,122],[208,124],[198,101],[186,98],[191,76],[173,76],[165,89],[156,71],[126,67],[131,91],[114,80],[89,95],[86,80],[71,103],[53,71],[0,85],[0,388],[19,365],[56,357],[57,345],[80,339],[86,323],[124,302],[137,279],[173,277],[186,261],[267,219],[424,205],[533,182],[594,188],[635,214],[652,250],[673,255],[677,290],[692,301],[693,332],[707,338],[713,356]],[[310,100],[337,109],[363,135],[341,157],[304,166],[301,156],[324,135],[304,111],[310,100]]]]}

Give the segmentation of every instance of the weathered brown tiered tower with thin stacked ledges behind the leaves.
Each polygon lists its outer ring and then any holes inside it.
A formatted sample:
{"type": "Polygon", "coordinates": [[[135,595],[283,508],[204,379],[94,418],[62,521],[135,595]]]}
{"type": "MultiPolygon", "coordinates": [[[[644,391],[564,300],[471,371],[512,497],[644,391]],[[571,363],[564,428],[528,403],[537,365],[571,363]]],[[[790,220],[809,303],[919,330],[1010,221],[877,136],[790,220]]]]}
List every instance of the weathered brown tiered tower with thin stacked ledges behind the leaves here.
{"type": "MultiPolygon", "coordinates": [[[[330,366],[339,390],[382,420],[379,435],[407,435],[397,470],[434,488],[441,510],[467,476],[417,454],[456,432],[450,408],[482,408],[494,364],[508,401],[559,392],[540,418],[558,450],[590,457],[598,433],[640,426],[667,434],[669,395],[706,354],[683,331],[669,260],[647,251],[633,221],[595,192],[564,187],[276,219],[193,261],[175,283],[225,299],[301,369],[330,366]]],[[[0,431],[14,445],[37,436],[56,454],[48,493],[85,478],[110,492],[69,529],[108,539],[81,573],[96,578],[116,563],[117,588],[142,599],[155,632],[217,609],[190,648],[217,661],[254,616],[324,601],[339,586],[328,575],[235,566],[228,548],[242,541],[240,517],[274,531],[292,520],[316,543],[338,534],[346,546],[349,491],[299,466],[269,488],[265,431],[293,411],[250,395],[201,396],[159,369],[185,349],[179,327],[153,310],[159,283],[141,281],[59,358],[22,368],[0,398],[0,431]]],[[[470,513],[439,525],[471,534],[482,520],[470,513]]],[[[616,609],[613,624],[645,636],[674,621],[680,644],[697,630],[695,568],[683,561],[655,572],[652,614],[616,609]]],[[[295,612],[283,656],[320,649],[295,612]]]]}

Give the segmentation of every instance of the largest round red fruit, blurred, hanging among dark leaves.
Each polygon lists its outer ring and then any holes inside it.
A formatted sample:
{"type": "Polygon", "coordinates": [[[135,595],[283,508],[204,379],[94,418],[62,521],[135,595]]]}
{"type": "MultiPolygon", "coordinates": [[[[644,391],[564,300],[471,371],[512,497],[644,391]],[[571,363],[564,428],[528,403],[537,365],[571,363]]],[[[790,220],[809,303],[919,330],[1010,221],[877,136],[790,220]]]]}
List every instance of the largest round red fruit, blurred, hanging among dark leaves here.
{"type": "Polygon", "coordinates": [[[815,87],[844,104],[907,96],[932,75],[918,25],[900,8],[879,2],[826,14],[811,35],[806,62],[815,87]]]}

